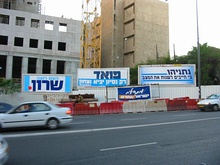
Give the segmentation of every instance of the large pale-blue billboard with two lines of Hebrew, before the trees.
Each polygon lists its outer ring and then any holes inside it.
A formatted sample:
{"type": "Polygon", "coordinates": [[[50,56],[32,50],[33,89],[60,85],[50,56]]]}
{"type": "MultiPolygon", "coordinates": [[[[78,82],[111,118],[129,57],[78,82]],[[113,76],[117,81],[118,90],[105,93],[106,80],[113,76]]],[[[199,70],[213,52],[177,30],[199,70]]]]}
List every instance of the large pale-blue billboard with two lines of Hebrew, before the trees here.
{"type": "Polygon", "coordinates": [[[195,65],[139,65],[138,83],[195,85],[195,65]]]}

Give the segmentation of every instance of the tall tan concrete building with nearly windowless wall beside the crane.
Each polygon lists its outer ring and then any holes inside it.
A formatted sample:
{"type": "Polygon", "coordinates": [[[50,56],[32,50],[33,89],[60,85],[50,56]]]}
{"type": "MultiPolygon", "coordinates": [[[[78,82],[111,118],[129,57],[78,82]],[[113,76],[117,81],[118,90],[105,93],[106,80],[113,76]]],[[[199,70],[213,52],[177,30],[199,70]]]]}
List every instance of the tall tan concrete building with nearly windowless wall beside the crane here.
{"type": "Polygon", "coordinates": [[[102,1],[102,67],[134,67],[169,53],[168,4],[102,1]]]}

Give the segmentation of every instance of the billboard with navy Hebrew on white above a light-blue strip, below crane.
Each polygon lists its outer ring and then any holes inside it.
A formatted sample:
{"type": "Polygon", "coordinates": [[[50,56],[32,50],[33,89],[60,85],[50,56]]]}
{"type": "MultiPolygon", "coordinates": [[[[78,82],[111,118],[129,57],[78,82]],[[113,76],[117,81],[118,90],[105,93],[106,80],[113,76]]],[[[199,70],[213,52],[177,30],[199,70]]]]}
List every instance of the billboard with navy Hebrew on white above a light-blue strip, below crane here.
{"type": "Polygon", "coordinates": [[[130,84],[129,68],[78,69],[78,87],[114,87],[130,84]]]}

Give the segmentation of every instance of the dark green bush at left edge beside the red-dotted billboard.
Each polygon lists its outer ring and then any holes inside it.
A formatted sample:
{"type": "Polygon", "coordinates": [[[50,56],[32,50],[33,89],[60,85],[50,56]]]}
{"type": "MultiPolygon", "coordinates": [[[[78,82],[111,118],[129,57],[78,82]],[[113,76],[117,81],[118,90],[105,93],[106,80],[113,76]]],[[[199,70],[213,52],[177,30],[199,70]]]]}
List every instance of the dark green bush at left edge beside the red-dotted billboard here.
{"type": "Polygon", "coordinates": [[[13,94],[21,91],[20,83],[16,83],[13,79],[0,79],[0,91],[4,94],[13,94]]]}

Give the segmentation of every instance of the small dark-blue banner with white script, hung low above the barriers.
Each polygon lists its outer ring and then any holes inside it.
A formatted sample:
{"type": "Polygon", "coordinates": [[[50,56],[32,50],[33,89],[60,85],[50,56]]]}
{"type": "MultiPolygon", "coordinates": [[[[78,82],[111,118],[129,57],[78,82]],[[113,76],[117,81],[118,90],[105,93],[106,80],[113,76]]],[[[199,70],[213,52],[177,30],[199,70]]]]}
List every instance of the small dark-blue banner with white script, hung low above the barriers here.
{"type": "Polygon", "coordinates": [[[118,88],[118,100],[143,100],[151,99],[151,88],[147,86],[118,88]]]}

